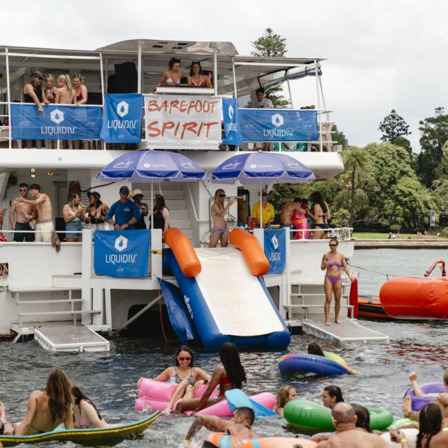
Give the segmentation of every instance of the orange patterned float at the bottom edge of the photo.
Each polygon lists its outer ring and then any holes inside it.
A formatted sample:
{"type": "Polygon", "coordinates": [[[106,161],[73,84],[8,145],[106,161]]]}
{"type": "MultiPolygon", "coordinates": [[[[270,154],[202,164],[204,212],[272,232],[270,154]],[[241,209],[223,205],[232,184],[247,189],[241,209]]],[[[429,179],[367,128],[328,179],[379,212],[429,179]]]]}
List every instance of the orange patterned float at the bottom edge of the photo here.
{"type": "Polygon", "coordinates": [[[317,445],[316,442],[307,438],[262,437],[242,440],[222,432],[210,434],[207,442],[219,448],[294,448],[297,445],[303,448],[314,448],[317,445]]]}

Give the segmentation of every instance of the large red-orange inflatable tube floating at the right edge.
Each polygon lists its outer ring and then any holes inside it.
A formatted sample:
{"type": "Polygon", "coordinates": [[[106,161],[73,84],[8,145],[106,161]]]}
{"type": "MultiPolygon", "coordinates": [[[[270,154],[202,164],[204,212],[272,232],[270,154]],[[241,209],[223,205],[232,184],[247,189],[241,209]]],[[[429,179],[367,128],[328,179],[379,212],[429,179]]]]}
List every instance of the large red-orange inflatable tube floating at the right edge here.
{"type": "Polygon", "coordinates": [[[389,316],[409,319],[448,318],[448,277],[398,277],[380,289],[389,316]]]}

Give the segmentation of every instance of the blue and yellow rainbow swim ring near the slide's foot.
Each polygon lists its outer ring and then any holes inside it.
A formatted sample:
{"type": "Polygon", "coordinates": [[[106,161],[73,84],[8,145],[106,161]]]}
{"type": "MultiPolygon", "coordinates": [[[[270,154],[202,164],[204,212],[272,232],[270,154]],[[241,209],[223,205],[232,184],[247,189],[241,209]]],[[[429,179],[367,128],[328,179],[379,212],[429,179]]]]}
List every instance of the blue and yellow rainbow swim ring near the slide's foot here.
{"type": "Polygon", "coordinates": [[[330,352],[324,353],[325,358],[307,353],[289,353],[278,360],[278,369],[287,373],[307,371],[318,375],[343,375],[353,372],[340,356],[330,352]],[[329,358],[327,354],[333,356],[334,359],[329,358]],[[336,361],[336,358],[342,360],[343,363],[336,361]]]}

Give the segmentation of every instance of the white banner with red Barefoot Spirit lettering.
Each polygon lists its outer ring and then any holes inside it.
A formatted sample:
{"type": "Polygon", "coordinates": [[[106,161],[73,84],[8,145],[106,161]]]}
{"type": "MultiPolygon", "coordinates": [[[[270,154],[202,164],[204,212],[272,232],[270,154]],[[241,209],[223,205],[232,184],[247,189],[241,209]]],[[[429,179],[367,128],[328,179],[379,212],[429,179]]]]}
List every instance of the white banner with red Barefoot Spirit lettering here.
{"type": "Polygon", "coordinates": [[[145,141],[167,149],[218,149],[221,99],[206,95],[145,95],[145,141]]]}

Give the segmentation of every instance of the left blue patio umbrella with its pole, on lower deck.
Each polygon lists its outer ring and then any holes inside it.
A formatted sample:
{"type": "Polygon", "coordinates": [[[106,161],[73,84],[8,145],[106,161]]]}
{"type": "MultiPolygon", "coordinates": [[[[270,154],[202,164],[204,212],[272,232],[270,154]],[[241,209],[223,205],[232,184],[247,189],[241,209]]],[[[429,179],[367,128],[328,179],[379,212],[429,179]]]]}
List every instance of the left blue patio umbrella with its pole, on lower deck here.
{"type": "MultiPolygon", "coordinates": [[[[196,163],[177,152],[135,151],[117,157],[103,168],[95,179],[97,181],[150,182],[151,198],[153,183],[169,179],[172,182],[188,182],[205,179],[205,171],[196,163]]],[[[151,228],[154,228],[151,207],[151,228]]]]}

